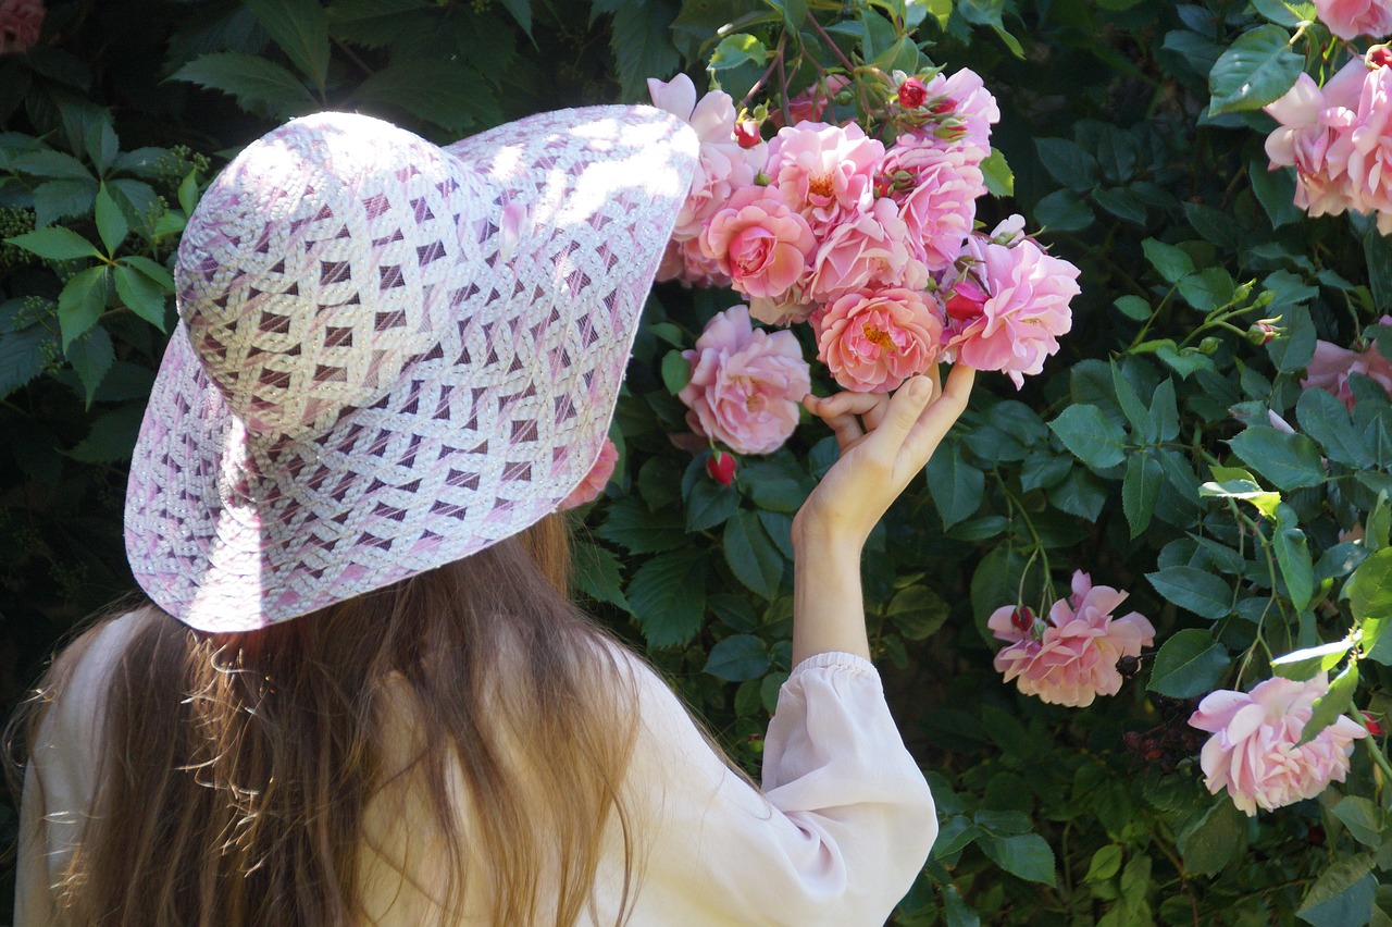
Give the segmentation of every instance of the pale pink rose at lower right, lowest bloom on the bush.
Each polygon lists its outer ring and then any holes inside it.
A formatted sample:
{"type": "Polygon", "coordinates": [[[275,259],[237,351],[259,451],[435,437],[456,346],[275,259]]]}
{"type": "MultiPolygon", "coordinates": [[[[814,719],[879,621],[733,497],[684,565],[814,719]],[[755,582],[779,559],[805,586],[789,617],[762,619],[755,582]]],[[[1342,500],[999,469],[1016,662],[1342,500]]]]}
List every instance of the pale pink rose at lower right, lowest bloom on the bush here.
{"type": "Polygon", "coordinates": [[[1304,746],[1296,746],[1315,699],[1329,688],[1324,674],[1296,682],[1272,678],[1251,692],[1219,689],[1204,696],[1189,724],[1214,736],[1199,763],[1214,795],[1228,789],[1249,816],[1320,795],[1349,774],[1353,740],[1367,736],[1352,718],[1338,721],[1304,746]]]}

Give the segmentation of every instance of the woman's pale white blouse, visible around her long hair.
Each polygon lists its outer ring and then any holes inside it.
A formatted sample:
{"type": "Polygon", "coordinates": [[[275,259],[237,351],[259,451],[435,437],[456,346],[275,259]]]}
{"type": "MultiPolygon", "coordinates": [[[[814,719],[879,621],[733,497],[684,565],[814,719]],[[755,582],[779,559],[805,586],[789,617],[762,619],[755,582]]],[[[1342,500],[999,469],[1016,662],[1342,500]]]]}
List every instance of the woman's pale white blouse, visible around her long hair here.
{"type": "MultiPolygon", "coordinates": [[[[93,706],[135,626],[128,615],[89,639],[40,727],[25,772],[17,924],[58,923],[49,887],[67,866],[95,792],[93,706]]],[[[639,881],[628,923],[883,924],[923,867],[938,825],[874,667],[823,653],[793,670],[764,739],[757,791],[725,767],[671,689],[632,664],[640,727],[624,800],[639,827],[639,881]]],[[[430,887],[440,884],[433,869],[441,855],[412,825],[404,806],[412,800],[383,795],[366,807],[365,924],[437,920],[430,887]]],[[[583,923],[612,924],[619,910],[622,853],[617,825],[610,830],[614,852],[601,860],[583,923]]]]}

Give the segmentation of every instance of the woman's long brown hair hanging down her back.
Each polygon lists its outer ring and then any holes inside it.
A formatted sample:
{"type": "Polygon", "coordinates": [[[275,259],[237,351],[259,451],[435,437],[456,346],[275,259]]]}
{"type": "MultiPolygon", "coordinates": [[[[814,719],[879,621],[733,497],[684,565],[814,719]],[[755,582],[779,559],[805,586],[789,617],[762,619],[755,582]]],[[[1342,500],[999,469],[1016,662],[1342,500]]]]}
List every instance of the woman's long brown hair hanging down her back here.
{"type": "MultiPolygon", "coordinates": [[[[441,923],[464,914],[465,873],[486,880],[470,885],[486,899],[473,916],[574,923],[611,823],[626,905],[633,841],[618,786],[636,692],[565,597],[568,572],[565,528],[550,518],[256,632],[199,633],[150,607],[110,682],[95,814],[57,896],[67,921],[354,923],[363,811],[402,768],[427,785],[423,824],[447,838],[441,923]],[[419,745],[390,770],[386,679],[412,696],[419,745]]],[[[32,700],[29,745],[70,670],[60,658],[32,700]]]]}

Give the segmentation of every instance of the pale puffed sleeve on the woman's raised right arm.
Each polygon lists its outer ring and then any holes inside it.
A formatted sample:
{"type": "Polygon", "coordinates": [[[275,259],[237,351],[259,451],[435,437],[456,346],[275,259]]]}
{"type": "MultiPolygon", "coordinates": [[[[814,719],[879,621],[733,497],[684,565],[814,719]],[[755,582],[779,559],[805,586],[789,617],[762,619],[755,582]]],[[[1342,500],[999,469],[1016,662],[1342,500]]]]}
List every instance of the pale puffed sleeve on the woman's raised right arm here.
{"type": "Polygon", "coordinates": [[[720,761],[646,668],[639,699],[628,786],[646,866],[635,923],[885,921],[937,817],[869,661],[825,653],[793,670],[764,740],[763,792],[720,761]]]}

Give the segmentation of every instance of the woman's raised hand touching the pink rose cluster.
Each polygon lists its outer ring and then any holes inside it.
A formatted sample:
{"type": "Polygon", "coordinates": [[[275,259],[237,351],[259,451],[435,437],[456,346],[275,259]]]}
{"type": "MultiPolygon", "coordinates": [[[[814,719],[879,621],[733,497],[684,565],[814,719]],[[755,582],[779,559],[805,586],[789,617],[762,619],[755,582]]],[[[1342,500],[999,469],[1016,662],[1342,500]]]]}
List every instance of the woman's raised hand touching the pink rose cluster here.
{"type": "Polygon", "coordinates": [[[885,509],[916,473],[922,473],[942,436],[966,408],[976,372],[956,365],[941,387],[928,376],[905,381],[892,395],[837,393],[809,395],[803,406],[837,436],[841,459],[793,521],[793,540],[817,534],[864,544],[885,509]]]}

